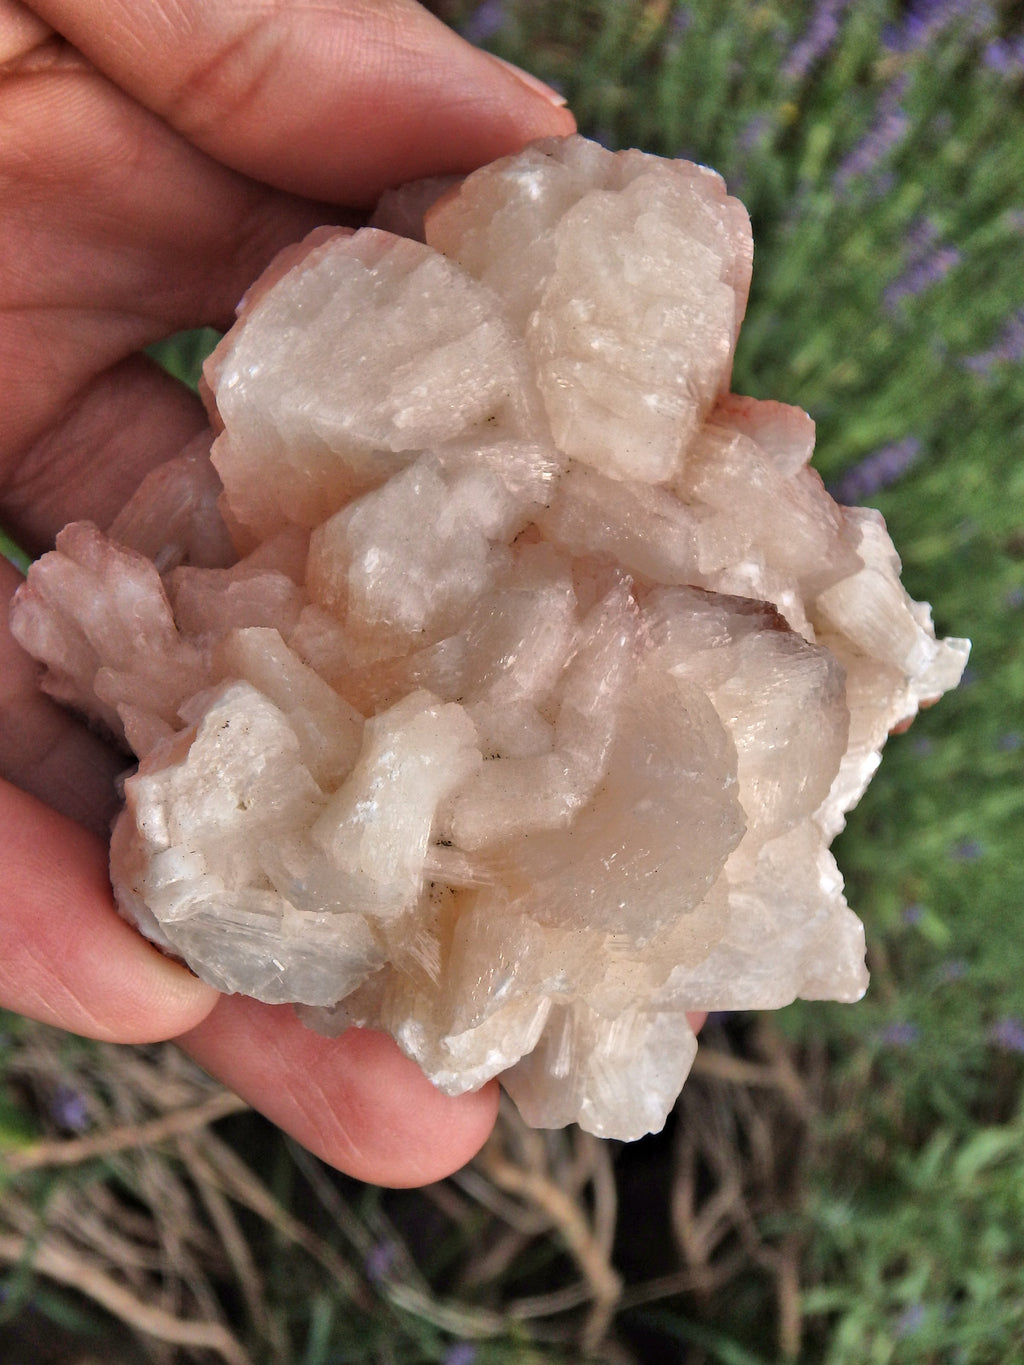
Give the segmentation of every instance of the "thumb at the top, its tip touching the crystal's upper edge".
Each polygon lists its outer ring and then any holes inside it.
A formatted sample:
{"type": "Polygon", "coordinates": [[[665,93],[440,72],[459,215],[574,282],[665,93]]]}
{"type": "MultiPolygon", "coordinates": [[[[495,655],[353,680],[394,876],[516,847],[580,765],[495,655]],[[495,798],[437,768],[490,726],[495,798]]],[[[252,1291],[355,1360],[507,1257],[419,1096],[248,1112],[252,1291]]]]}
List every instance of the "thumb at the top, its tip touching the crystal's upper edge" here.
{"type": "Polygon", "coordinates": [[[412,0],[34,0],[137,100],[246,175],[370,205],[572,116],[412,0]]]}

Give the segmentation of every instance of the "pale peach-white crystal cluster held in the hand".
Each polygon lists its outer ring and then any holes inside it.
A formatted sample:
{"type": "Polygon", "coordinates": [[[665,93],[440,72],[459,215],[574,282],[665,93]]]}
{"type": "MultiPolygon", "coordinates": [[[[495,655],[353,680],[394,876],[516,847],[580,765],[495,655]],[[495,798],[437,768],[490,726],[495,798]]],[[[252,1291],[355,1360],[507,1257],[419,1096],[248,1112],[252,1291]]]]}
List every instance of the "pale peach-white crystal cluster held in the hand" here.
{"type": "Polygon", "coordinates": [[[138,755],[126,916],[224,991],[388,1029],[449,1093],[632,1138],[687,1010],[853,1001],[829,844],[953,687],[810,418],[729,393],[751,272],[703,167],[580,138],[321,229],[201,441],[15,609],[138,755]],[[390,225],[422,218],[425,240],[390,225]]]}

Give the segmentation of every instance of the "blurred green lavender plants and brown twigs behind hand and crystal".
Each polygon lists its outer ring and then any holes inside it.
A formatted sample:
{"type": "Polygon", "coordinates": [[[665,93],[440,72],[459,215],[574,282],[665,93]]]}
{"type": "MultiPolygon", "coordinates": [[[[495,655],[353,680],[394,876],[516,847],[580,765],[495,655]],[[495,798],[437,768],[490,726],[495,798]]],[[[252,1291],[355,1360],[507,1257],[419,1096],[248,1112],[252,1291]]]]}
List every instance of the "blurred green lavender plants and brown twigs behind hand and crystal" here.
{"type": "MultiPolygon", "coordinates": [[[[425,1192],[326,1171],[172,1048],[4,1017],[0,1361],[1006,1365],[1024,1343],[1024,19],[971,0],[445,0],[608,146],[751,210],[735,388],[969,635],[837,845],[855,1007],[713,1018],[665,1133],[504,1114],[425,1192]],[[616,1211],[618,1209],[618,1216],[616,1211]]],[[[165,363],[194,378],[209,334],[165,363]]]]}

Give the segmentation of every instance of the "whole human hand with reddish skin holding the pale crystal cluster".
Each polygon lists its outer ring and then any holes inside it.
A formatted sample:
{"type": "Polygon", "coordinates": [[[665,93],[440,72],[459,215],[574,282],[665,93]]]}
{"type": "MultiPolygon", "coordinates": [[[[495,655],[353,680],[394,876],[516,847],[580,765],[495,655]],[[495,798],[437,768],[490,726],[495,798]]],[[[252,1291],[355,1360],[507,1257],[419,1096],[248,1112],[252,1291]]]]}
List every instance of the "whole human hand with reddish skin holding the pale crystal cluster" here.
{"type": "MultiPolygon", "coordinates": [[[[66,521],[108,526],[205,426],[141,348],[227,326],[337,206],[572,128],[412,0],[0,0],[0,523],[33,553],[66,521]]],[[[7,599],[19,576],[0,575],[7,599]]],[[[105,834],[123,766],[38,693],[0,627],[0,1005],[113,1041],[176,1037],[366,1181],[468,1160],[493,1084],[448,1099],[384,1035],[328,1040],[288,1006],[217,995],[119,919],[105,834]]]]}

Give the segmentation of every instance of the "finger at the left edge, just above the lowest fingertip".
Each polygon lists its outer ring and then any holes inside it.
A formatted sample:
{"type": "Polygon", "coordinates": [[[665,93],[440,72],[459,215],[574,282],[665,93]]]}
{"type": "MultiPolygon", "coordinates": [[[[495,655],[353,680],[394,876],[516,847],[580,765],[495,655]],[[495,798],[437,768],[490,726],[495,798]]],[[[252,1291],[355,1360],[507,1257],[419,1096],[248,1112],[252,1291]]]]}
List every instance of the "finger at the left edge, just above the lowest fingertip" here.
{"type": "Polygon", "coordinates": [[[105,844],[0,782],[0,1006],[116,1043],[194,1028],[217,992],[117,915],[105,844]]]}

